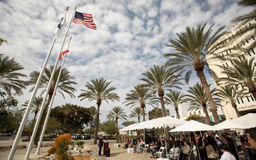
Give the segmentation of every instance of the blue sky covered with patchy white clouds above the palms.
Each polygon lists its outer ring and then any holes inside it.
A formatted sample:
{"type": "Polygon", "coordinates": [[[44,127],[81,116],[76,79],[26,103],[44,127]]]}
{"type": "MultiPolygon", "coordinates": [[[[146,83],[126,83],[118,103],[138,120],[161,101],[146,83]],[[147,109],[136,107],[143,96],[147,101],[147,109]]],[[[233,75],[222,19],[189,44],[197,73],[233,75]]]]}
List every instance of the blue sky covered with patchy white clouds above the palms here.
{"type": "MultiPolygon", "coordinates": [[[[226,25],[229,21],[251,8],[241,8],[236,5],[237,0],[1,0],[0,2],[0,37],[8,40],[8,44],[1,46],[0,52],[14,57],[23,67],[22,73],[28,75],[36,70],[40,71],[44,59],[54,38],[54,30],[62,17],[66,6],[67,23],[74,7],[76,11],[90,13],[97,26],[92,30],[82,24],[71,23],[68,36],[72,36],[65,67],[75,76],[74,87],[76,97],[85,89],[86,82],[91,79],[104,77],[112,81],[120,96],[119,102],[105,101],[100,106],[100,121],[106,120],[108,111],[114,106],[121,106],[130,114],[130,108],[122,105],[126,93],[133,86],[141,84],[142,73],[154,64],[162,65],[166,58],[162,54],[172,52],[167,47],[169,40],[176,37],[175,33],[185,31],[186,26],[195,27],[207,22],[208,26],[216,23],[214,29],[226,25]]],[[[66,28],[62,28],[56,40],[48,65],[54,64],[66,28]]],[[[66,41],[67,42],[67,41],[66,41]]],[[[59,62],[60,65],[61,61],[59,62]]],[[[28,79],[28,78],[27,78],[28,79]]],[[[208,75],[207,80],[213,83],[208,75]]],[[[193,75],[188,86],[200,82],[193,75]]],[[[19,106],[29,100],[31,92],[24,90],[24,94],[17,99],[19,106]]],[[[40,91],[37,92],[37,95],[40,91]]],[[[83,107],[96,106],[96,101],[80,101],[79,98],[66,99],[57,94],[53,106],[65,103],[77,104],[83,107]]],[[[160,107],[160,106],[159,106],[160,107]]],[[[175,114],[172,106],[171,115],[175,114]]],[[[153,109],[148,106],[147,112],[153,109]]],[[[32,117],[30,115],[29,117],[32,117]]],[[[148,119],[148,118],[146,118],[148,119]]],[[[136,118],[132,120],[137,121],[136,118]]],[[[121,121],[118,123],[121,125],[121,121]]]]}

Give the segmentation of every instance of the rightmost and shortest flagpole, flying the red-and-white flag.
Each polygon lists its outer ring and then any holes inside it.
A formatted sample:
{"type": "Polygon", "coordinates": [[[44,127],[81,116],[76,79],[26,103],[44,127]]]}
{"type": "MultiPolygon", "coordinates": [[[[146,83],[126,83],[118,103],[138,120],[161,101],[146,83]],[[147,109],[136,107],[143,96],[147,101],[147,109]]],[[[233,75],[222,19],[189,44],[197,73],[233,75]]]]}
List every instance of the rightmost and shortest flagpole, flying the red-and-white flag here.
{"type": "MultiPolygon", "coordinates": [[[[70,44],[71,38],[72,38],[72,37],[69,38],[68,45],[70,44]]],[[[61,71],[62,71],[62,68],[63,68],[63,65],[64,65],[64,61],[65,61],[66,55],[67,55],[67,53],[65,53],[64,58],[63,58],[63,62],[62,62],[61,67],[60,67],[59,76],[58,76],[58,78],[57,78],[56,85],[55,85],[55,88],[54,88],[54,91],[53,91],[53,94],[52,94],[52,100],[51,100],[51,102],[50,102],[50,106],[49,106],[49,108],[48,108],[48,112],[47,112],[47,115],[46,115],[46,117],[45,117],[44,127],[43,127],[43,130],[42,130],[41,136],[40,136],[39,143],[38,143],[38,145],[37,145],[37,149],[36,149],[36,154],[35,154],[35,155],[40,155],[40,154],[39,154],[39,151],[40,151],[41,144],[42,144],[42,141],[43,141],[43,138],[44,138],[44,132],[45,132],[45,130],[46,130],[46,126],[47,126],[47,123],[48,123],[48,119],[49,119],[49,116],[50,116],[50,113],[51,113],[52,103],[53,103],[53,100],[54,100],[54,97],[55,97],[55,93],[56,93],[56,90],[57,90],[57,87],[58,87],[58,83],[59,83],[59,80],[60,80],[61,71]]]]}

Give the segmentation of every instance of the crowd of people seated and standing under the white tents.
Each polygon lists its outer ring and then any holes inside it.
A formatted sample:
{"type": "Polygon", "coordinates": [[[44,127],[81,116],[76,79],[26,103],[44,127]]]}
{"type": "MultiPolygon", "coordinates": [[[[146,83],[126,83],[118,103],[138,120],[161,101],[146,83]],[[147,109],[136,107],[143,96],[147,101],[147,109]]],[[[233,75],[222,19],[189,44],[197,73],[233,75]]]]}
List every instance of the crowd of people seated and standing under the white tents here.
{"type": "MultiPolygon", "coordinates": [[[[207,132],[201,135],[179,135],[171,134],[170,140],[166,141],[166,149],[163,150],[162,156],[176,160],[178,157],[182,160],[196,159],[198,157],[198,149],[205,149],[207,157],[210,160],[239,160],[238,146],[236,138],[241,142],[241,149],[244,152],[245,160],[256,160],[256,127],[247,129],[243,135],[240,133],[235,135],[222,133],[220,136],[215,133],[208,135],[207,132]],[[167,150],[167,152],[166,152],[167,150]]],[[[148,146],[148,152],[151,152],[151,158],[156,158],[161,146],[164,146],[165,136],[156,135],[152,140],[146,142],[142,138],[133,140],[127,139],[123,148],[133,148],[135,152],[141,153],[141,150],[148,146]]],[[[201,155],[201,154],[200,154],[201,155]]]]}

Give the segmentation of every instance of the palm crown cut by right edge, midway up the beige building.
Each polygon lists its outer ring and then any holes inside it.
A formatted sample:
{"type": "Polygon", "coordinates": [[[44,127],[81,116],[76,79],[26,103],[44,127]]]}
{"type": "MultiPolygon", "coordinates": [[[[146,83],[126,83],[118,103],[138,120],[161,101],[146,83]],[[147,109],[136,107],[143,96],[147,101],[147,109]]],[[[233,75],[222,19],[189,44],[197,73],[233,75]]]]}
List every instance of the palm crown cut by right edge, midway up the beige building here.
{"type": "Polygon", "coordinates": [[[241,84],[242,88],[248,88],[248,92],[252,93],[256,100],[256,67],[255,57],[247,59],[244,56],[239,60],[233,60],[232,67],[226,67],[221,73],[228,77],[220,78],[220,81],[225,81],[230,85],[241,84]],[[240,60],[241,59],[241,60],[240,60]]]}

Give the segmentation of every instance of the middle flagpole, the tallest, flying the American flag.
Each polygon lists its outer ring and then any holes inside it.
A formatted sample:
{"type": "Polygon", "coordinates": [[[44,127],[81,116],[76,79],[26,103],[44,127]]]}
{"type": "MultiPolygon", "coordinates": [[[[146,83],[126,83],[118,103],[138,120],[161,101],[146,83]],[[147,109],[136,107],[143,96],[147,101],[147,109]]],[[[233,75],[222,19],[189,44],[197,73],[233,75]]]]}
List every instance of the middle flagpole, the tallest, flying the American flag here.
{"type": "Polygon", "coordinates": [[[58,61],[59,61],[59,58],[60,58],[60,53],[61,53],[61,51],[62,51],[63,44],[65,43],[65,40],[66,40],[66,37],[67,37],[67,34],[68,34],[68,29],[69,29],[70,24],[71,24],[71,22],[72,22],[72,19],[73,19],[73,17],[74,17],[75,11],[76,11],[76,7],[75,7],[75,9],[74,9],[73,15],[72,15],[71,20],[70,20],[70,22],[69,22],[69,25],[68,25],[67,31],[66,31],[66,33],[65,33],[64,39],[63,39],[63,41],[62,41],[62,44],[61,44],[61,47],[60,47],[60,52],[59,52],[58,57],[57,57],[57,59],[56,59],[56,61],[55,61],[55,65],[54,65],[54,68],[53,68],[53,70],[52,70],[52,75],[51,75],[51,78],[50,78],[50,80],[49,80],[49,83],[48,83],[48,86],[47,86],[47,89],[46,89],[46,92],[45,92],[45,95],[44,95],[44,100],[43,100],[43,102],[42,102],[42,105],[41,105],[41,108],[40,108],[40,111],[39,111],[39,114],[38,114],[38,117],[37,117],[37,120],[36,120],[36,125],[35,125],[35,127],[34,127],[33,134],[32,134],[32,136],[31,136],[31,139],[30,139],[30,142],[29,142],[29,145],[28,145],[28,150],[27,150],[27,153],[26,153],[26,156],[25,156],[25,159],[24,159],[24,160],[29,160],[30,151],[31,151],[32,146],[33,146],[33,143],[34,143],[34,138],[35,138],[35,136],[36,136],[36,132],[37,132],[37,129],[38,129],[38,126],[39,126],[39,122],[40,122],[40,120],[41,120],[41,116],[42,116],[42,114],[43,114],[45,102],[46,102],[46,99],[47,99],[47,97],[48,97],[48,93],[49,93],[50,88],[51,88],[52,79],[53,79],[53,77],[54,77],[54,73],[55,73],[55,71],[56,71],[56,68],[58,67],[58,61]]]}

